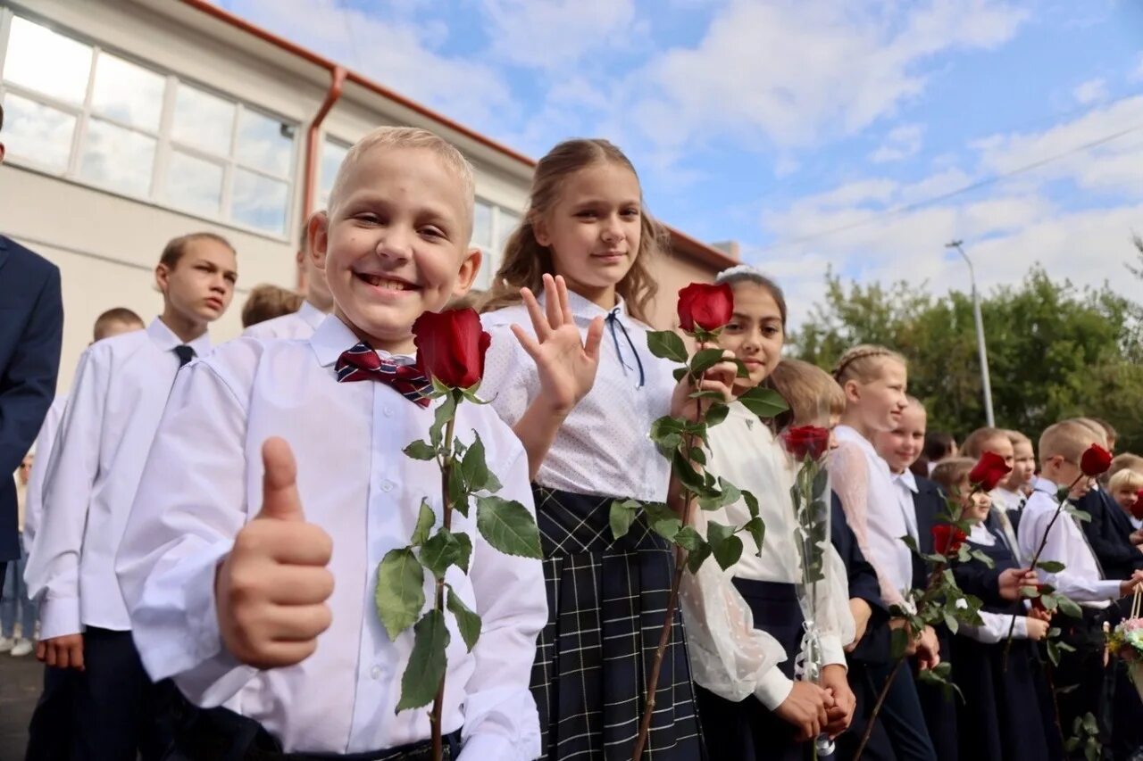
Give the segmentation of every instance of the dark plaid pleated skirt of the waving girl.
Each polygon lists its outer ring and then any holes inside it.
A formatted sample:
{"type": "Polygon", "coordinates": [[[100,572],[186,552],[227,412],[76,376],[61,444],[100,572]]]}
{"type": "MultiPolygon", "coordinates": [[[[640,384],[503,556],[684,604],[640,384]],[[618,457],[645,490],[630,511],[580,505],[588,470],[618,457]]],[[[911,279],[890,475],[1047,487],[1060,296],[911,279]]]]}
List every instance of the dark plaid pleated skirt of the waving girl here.
{"type": "MultiPolygon", "coordinates": [[[[630,761],[674,568],[645,521],[612,536],[612,497],[534,487],[544,548],[547,625],[531,692],[547,761],[630,761]]],[[[682,618],[655,691],[647,761],[705,759],[682,618]]]]}

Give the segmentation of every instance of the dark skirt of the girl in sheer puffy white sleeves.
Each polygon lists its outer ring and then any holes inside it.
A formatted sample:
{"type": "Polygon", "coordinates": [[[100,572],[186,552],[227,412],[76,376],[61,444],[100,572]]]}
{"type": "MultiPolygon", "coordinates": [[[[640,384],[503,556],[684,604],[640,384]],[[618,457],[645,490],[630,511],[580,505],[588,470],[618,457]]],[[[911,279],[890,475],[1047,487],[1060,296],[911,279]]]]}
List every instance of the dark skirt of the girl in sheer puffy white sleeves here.
{"type": "MultiPolygon", "coordinates": [[[[735,578],[754,616],[754,627],[769,633],[785,650],[778,664],[793,679],[794,657],[801,647],[802,615],[793,584],[735,578]]],[[[800,761],[808,743],[796,740],[797,729],[769,711],[753,695],[734,703],[696,687],[698,715],[706,752],[718,761],[800,761]]]]}

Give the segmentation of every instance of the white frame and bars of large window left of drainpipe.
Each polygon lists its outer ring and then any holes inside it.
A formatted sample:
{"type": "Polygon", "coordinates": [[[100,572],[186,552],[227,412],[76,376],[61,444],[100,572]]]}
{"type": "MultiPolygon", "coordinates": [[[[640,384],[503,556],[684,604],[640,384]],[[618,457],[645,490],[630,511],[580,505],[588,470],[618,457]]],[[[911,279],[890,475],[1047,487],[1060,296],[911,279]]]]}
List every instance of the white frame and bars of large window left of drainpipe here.
{"type": "Polygon", "coordinates": [[[302,141],[298,139],[302,135],[303,127],[301,122],[277,114],[270,109],[247,103],[245,99],[233,94],[219,90],[216,87],[211,87],[210,85],[200,82],[190,77],[177,74],[166,66],[142,59],[138,56],[131,55],[130,53],[121,50],[117,47],[97,42],[88,35],[63,26],[50,18],[37,15],[25,8],[21,8],[19,13],[16,13],[16,10],[10,7],[2,7],[0,8],[0,99],[6,97],[9,93],[24,98],[25,101],[31,101],[40,106],[46,106],[74,118],[75,128],[72,130],[71,145],[67,147],[69,153],[66,168],[62,173],[57,171],[53,167],[37,162],[34,158],[18,155],[15,152],[9,152],[6,157],[7,163],[101,192],[111,193],[121,198],[168,209],[176,214],[233,227],[263,238],[270,238],[275,241],[290,241],[293,239],[293,229],[295,226],[294,221],[298,214],[295,208],[297,206],[297,190],[301,184],[301,178],[298,177],[298,168],[302,160],[302,141]],[[11,35],[13,18],[17,17],[90,48],[91,61],[88,66],[87,83],[85,86],[83,101],[81,104],[77,105],[74,103],[69,103],[53,95],[40,93],[30,87],[5,80],[3,67],[11,35]],[[131,125],[125,120],[111,115],[104,115],[94,109],[93,95],[95,90],[95,79],[98,75],[99,56],[104,54],[139,66],[163,79],[162,103],[159,111],[158,128],[152,129],[131,125]],[[175,138],[173,130],[175,101],[181,85],[185,85],[190,88],[215,96],[234,105],[234,115],[230,125],[230,146],[227,155],[211,153],[210,151],[205,151],[175,138]],[[237,149],[239,139],[239,125],[241,123],[242,115],[246,111],[250,111],[265,119],[278,121],[294,130],[286,174],[277,175],[251,163],[246,163],[238,158],[237,149]],[[154,157],[151,163],[151,175],[147,179],[147,193],[137,194],[122,187],[99,183],[80,174],[83,149],[87,146],[88,126],[93,119],[119,129],[143,135],[155,142],[154,157]],[[223,179],[222,187],[219,189],[219,208],[217,214],[194,210],[186,206],[182,206],[176,201],[169,200],[166,193],[166,183],[168,179],[170,159],[176,151],[191,158],[208,161],[222,167],[223,179]],[[285,214],[282,216],[281,230],[267,230],[265,227],[250,225],[234,216],[234,182],[239,170],[249,173],[262,179],[281,183],[286,186],[286,207],[283,209],[285,214]]]}

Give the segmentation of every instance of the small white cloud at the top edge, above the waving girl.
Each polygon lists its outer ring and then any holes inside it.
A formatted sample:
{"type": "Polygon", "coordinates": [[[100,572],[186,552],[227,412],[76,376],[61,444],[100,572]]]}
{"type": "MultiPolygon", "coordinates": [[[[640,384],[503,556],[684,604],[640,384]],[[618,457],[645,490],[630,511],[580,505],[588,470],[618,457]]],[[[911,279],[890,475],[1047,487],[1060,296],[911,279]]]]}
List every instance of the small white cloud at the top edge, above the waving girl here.
{"type": "Polygon", "coordinates": [[[588,54],[645,39],[634,0],[487,0],[480,3],[497,58],[535,69],[561,70],[588,54]]]}

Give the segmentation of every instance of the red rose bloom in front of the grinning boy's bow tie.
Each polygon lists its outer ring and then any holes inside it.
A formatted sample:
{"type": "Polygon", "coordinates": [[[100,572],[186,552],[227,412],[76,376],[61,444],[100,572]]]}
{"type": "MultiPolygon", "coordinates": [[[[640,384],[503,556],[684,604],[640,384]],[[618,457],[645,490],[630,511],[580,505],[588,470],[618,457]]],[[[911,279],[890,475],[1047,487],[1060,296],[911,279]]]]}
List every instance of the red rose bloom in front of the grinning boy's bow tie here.
{"type": "Polygon", "coordinates": [[[485,376],[485,352],[493,337],[474,310],[424,312],[413,323],[417,367],[451,388],[469,388],[485,376]]]}

